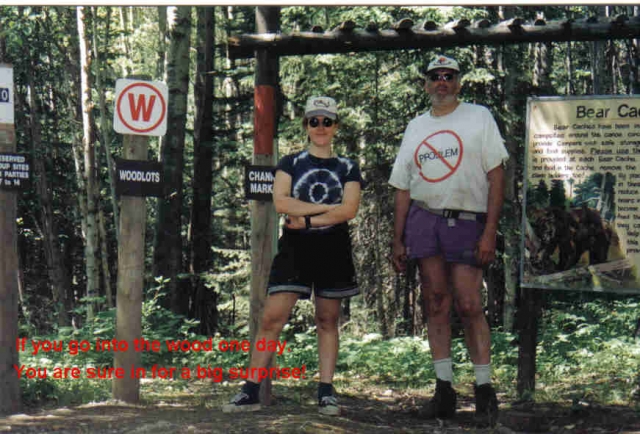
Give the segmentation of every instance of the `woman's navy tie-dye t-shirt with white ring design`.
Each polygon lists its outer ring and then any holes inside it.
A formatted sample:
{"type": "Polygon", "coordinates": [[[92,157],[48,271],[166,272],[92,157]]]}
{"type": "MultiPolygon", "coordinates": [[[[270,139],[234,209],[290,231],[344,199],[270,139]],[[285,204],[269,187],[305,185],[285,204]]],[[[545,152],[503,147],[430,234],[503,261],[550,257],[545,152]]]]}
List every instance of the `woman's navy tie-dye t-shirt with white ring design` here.
{"type": "Polygon", "coordinates": [[[360,168],[355,161],[344,157],[318,158],[309,151],[283,157],[277,170],[291,176],[291,197],[310,203],[342,203],[345,184],[352,181],[362,183],[360,168]]]}

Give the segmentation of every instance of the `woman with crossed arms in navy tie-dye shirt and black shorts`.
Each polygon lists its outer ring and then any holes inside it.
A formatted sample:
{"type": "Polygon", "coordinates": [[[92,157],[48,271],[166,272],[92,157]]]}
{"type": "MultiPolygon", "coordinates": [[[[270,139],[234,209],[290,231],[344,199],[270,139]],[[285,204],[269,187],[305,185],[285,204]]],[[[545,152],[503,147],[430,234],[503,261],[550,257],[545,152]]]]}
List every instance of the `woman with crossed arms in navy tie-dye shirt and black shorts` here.
{"type": "MultiPolygon", "coordinates": [[[[328,97],[307,101],[303,126],[308,149],[280,160],[273,186],[276,211],[285,214],[278,254],[271,265],[267,300],[255,341],[276,341],[298,299],[314,293],[322,414],[338,415],[332,386],[338,358],[338,320],[343,298],[360,291],[356,283],[347,222],[360,204],[362,177],[357,163],[333,153],[338,129],[336,102],[328,97]]],[[[257,369],[271,352],[253,349],[249,378],[224,412],[260,409],[257,369]]]]}

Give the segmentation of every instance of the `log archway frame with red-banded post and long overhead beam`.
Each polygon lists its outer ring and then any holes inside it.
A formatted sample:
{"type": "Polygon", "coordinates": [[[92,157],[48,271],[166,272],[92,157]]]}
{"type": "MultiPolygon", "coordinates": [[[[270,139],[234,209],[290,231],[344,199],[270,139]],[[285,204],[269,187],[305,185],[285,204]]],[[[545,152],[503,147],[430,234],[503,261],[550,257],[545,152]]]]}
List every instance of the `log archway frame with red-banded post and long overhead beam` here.
{"type": "MultiPolygon", "coordinates": [[[[619,15],[601,19],[588,17],[579,20],[564,19],[527,22],[513,18],[492,24],[488,20],[460,19],[440,25],[425,21],[419,25],[403,19],[391,29],[380,30],[375,23],[358,26],[345,21],[336,28],[324,31],[315,26],[310,31],[280,32],[280,8],[256,8],[256,34],[231,36],[228,40],[231,58],[256,58],[255,111],[254,111],[254,164],[272,164],[273,142],[278,110],[278,58],[305,54],[336,54],[366,51],[430,49],[462,47],[468,45],[508,45],[536,42],[605,41],[640,38],[640,16],[619,15]]],[[[277,230],[273,206],[270,202],[252,208],[252,284],[251,284],[251,338],[255,336],[257,321],[264,298],[264,286],[272,260],[269,250],[277,230]]],[[[535,386],[535,354],[538,295],[528,290],[520,302],[520,315],[528,317],[526,325],[533,337],[520,339],[518,363],[518,391],[523,393],[535,386]],[[533,329],[533,330],[531,330],[533,329]],[[524,360],[524,363],[520,363],[524,360]]],[[[270,383],[262,389],[269,390],[270,383]]],[[[261,394],[261,400],[268,396],[261,394]]],[[[263,400],[263,402],[265,402],[263,400]]]]}

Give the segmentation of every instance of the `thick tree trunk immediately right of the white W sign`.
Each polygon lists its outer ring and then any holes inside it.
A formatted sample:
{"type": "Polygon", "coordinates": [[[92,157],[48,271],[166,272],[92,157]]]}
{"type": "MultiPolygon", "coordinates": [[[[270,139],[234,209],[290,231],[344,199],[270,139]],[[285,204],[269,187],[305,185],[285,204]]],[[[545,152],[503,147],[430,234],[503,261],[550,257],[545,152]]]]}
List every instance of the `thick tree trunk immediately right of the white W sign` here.
{"type": "Polygon", "coordinates": [[[182,179],[184,169],[184,140],[187,121],[187,92],[189,90],[189,50],[191,47],[191,7],[172,8],[169,13],[167,79],[169,128],[161,141],[165,196],[158,201],[154,249],[154,276],[168,278],[168,301],[171,310],[187,315],[189,298],[180,290],[178,276],[182,268],[182,179]]]}

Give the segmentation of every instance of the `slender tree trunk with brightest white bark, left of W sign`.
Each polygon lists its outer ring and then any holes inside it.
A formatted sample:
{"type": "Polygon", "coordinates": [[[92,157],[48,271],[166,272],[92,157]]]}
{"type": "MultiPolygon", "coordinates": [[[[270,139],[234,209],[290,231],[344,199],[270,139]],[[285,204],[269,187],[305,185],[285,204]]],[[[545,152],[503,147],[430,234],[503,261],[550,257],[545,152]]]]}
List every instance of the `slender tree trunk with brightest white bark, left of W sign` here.
{"type": "Polygon", "coordinates": [[[91,57],[88,50],[88,40],[85,31],[84,21],[87,19],[85,8],[78,6],[78,39],[80,42],[80,86],[81,86],[81,106],[82,106],[82,148],[84,151],[84,179],[86,187],[87,214],[85,234],[85,269],[87,273],[87,320],[90,321],[94,315],[94,297],[98,296],[100,282],[100,268],[98,256],[98,180],[96,176],[96,153],[95,142],[92,131],[91,110],[91,57]]]}

